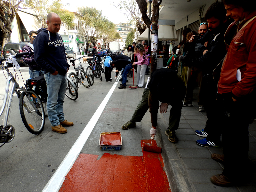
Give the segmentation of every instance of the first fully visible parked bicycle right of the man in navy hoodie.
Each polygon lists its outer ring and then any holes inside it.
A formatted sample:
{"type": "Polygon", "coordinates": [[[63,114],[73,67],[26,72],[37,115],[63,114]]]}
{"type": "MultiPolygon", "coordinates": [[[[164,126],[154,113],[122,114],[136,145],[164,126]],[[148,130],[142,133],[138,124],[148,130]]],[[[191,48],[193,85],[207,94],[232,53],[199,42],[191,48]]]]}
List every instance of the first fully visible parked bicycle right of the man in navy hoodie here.
{"type": "MultiPolygon", "coordinates": [[[[83,57],[85,57],[85,56],[83,56],[83,57]]],[[[84,67],[82,66],[82,63],[81,63],[81,60],[80,60],[83,57],[80,57],[78,59],[69,60],[69,62],[72,63],[72,65],[74,66],[74,69],[75,69],[76,73],[71,72],[71,73],[69,73],[68,77],[75,84],[77,91],[78,91],[78,88],[79,88],[80,84],[82,84],[84,87],[87,87],[87,88],[89,88],[91,86],[90,78],[85,73],[84,67]],[[76,60],[79,60],[79,67],[78,68],[76,68],[76,64],[75,64],[76,60]]]]}

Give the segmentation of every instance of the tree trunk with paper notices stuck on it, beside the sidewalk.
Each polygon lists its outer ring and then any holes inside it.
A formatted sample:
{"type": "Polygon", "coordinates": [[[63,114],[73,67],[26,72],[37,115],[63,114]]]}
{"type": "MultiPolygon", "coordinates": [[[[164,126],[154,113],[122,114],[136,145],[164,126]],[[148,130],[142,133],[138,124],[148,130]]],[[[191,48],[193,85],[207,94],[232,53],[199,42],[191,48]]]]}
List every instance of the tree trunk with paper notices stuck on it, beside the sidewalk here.
{"type": "MultiPolygon", "coordinates": [[[[162,0],[153,0],[153,12],[152,12],[152,36],[157,35],[158,42],[158,18],[159,18],[159,5],[162,3],[162,0]]],[[[153,40],[153,39],[152,39],[153,40]]],[[[153,42],[152,42],[153,43],[153,42]]],[[[155,57],[157,55],[157,46],[158,43],[154,43],[156,45],[156,50],[151,51],[151,65],[150,71],[153,72],[156,70],[156,60],[155,57]]]]}

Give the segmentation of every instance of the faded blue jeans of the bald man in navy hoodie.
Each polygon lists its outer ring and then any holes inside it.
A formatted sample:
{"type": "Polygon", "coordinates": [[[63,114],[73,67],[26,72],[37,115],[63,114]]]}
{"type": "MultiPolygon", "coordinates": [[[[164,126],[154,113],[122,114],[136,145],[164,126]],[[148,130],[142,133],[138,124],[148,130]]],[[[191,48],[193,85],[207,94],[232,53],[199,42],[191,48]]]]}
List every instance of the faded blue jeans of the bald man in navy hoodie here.
{"type": "Polygon", "coordinates": [[[52,75],[50,72],[44,74],[47,86],[47,112],[52,126],[57,126],[65,120],[63,103],[67,88],[67,74],[52,75]]]}

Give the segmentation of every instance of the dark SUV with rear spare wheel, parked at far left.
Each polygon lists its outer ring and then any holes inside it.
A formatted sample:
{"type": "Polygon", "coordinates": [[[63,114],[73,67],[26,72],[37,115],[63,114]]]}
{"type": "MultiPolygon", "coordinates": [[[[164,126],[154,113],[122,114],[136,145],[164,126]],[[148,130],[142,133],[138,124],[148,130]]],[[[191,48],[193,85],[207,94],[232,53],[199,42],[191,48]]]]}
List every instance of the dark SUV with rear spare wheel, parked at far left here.
{"type": "MultiPolygon", "coordinates": [[[[4,49],[2,51],[3,57],[4,58],[8,58],[9,55],[14,55],[16,53],[21,53],[22,52],[22,48],[26,43],[7,43],[4,45],[4,49]]],[[[23,58],[19,57],[16,58],[17,62],[20,65],[25,65],[28,66],[26,63],[24,63],[23,58]]]]}

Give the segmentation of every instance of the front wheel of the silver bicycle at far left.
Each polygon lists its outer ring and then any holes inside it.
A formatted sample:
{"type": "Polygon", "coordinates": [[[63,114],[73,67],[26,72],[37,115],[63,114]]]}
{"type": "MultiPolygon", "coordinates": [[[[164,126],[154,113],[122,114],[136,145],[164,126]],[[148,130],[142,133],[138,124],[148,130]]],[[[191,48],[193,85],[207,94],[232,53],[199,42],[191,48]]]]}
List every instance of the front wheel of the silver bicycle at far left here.
{"type": "Polygon", "coordinates": [[[29,132],[38,135],[44,130],[44,107],[39,96],[33,90],[27,90],[20,95],[20,116],[29,132]],[[33,103],[36,108],[34,108],[33,103]]]}

